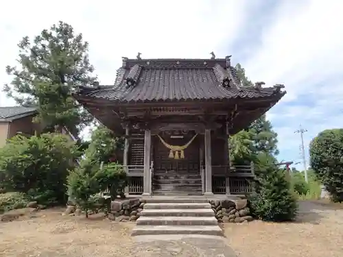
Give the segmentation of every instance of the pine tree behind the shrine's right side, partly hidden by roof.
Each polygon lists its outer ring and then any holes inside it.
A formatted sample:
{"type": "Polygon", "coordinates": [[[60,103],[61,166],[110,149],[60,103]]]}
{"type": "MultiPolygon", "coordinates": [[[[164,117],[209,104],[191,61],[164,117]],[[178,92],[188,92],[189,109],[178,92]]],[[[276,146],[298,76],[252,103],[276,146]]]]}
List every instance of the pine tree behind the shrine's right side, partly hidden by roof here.
{"type": "MultiPolygon", "coordinates": [[[[236,65],[237,76],[243,86],[253,86],[252,82],[246,76],[246,71],[241,67],[241,64],[236,65]]],[[[254,121],[248,128],[254,141],[253,152],[259,154],[260,152],[266,152],[268,154],[277,155],[279,150],[277,149],[277,134],[272,130],[272,124],[262,115],[259,119],[254,121]]]]}

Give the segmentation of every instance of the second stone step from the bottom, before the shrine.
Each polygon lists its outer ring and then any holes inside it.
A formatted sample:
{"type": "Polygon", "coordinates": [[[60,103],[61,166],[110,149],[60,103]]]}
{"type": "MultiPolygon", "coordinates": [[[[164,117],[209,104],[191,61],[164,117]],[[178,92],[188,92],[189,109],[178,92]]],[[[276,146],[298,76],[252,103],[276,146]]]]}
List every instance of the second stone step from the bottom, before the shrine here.
{"type": "Polygon", "coordinates": [[[137,225],[217,225],[215,217],[142,216],[137,225]]]}

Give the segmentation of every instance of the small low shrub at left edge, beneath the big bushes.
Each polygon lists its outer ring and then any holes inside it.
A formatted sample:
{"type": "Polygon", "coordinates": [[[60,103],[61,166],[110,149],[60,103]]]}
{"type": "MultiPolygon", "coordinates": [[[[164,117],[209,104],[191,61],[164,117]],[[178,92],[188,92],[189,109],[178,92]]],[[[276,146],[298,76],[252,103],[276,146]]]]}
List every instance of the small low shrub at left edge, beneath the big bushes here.
{"type": "Polygon", "coordinates": [[[29,199],[27,199],[27,196],[23,193],[0,193],[0,213],[8,210],[24,208],[28,203],[29,199]]]}

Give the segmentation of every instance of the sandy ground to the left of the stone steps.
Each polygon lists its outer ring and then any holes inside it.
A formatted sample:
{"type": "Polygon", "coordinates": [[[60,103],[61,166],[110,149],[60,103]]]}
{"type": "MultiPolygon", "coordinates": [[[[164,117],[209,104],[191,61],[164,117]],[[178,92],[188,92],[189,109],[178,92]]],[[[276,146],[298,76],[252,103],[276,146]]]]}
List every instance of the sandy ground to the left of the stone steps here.
{"type": "Polygon", "coordinates": [[[36,218],[0,223],[0,256],[130,256],[134,223],[102,215],[63,217],[62,212],[42,210],[36,218]]]}

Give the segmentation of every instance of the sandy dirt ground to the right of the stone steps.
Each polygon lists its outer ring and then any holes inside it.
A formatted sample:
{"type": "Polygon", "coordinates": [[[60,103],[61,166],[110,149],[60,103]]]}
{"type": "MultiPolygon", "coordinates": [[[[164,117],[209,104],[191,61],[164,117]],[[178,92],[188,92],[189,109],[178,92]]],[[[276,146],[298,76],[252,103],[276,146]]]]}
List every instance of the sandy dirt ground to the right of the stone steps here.
{"type": "Polygon", "coordinates": [[[225,225],[227,242],[242,257],[343,256],[343,210],[301,202],[299,212],[294,223],[225,225]]]}

